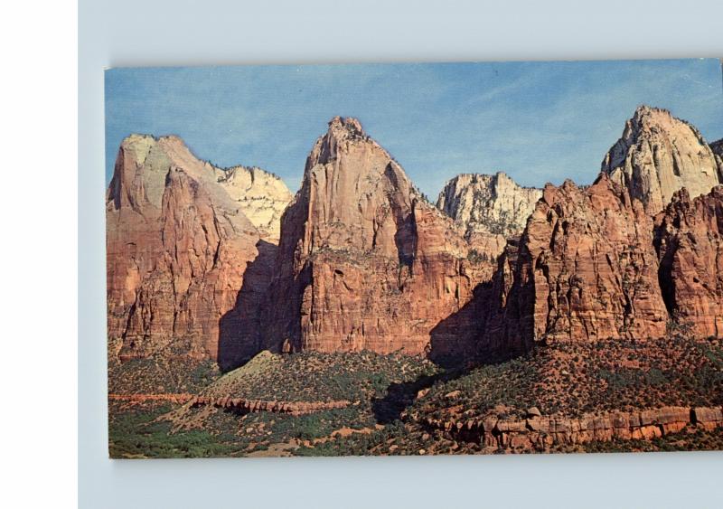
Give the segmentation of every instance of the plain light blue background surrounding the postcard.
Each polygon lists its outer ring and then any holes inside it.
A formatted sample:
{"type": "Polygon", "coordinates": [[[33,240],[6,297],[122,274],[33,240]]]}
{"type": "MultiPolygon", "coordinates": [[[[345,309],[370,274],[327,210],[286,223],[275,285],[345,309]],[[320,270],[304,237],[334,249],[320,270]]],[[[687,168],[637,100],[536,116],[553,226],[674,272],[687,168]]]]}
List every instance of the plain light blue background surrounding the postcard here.
{"type": "Polygon", "coordinates": [[[716,1],[81,0],[81,506],[723,505],[723,454],[716,452],[108,460],[103,199],[104,67],[710,57],[723,54],[721,19],[716,1]]]}

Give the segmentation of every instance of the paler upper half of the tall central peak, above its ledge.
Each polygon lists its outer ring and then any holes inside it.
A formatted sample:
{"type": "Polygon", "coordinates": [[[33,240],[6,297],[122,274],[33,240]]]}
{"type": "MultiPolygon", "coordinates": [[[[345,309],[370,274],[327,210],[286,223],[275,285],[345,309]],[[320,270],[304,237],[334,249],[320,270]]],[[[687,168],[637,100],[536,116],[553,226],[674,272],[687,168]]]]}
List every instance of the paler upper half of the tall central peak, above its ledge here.
{"type": "Polygon", "coordinates": [[[286,240],[302,240],[306,253],[373,250],[397,256],[403,248],[395,235],[409,227],[418,202],[419,193],[402,167],[364,133],[359,121],[335,117],[306,159],[294,210],[282,220],[304,231],[286,240]],[[293,214],[303,217],[292,220],[293,214]]]}

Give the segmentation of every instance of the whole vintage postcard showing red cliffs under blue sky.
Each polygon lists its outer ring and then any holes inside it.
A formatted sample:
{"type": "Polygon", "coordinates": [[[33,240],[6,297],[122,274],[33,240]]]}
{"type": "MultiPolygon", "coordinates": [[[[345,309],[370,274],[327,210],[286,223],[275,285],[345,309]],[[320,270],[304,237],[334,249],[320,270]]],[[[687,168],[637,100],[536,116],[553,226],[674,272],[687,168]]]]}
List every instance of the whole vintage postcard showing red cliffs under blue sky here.
{"type": "Polygon", "coordinates": [[[107,71],[110,456],[723,448],[721,138],[717,59],[107,71]]]}

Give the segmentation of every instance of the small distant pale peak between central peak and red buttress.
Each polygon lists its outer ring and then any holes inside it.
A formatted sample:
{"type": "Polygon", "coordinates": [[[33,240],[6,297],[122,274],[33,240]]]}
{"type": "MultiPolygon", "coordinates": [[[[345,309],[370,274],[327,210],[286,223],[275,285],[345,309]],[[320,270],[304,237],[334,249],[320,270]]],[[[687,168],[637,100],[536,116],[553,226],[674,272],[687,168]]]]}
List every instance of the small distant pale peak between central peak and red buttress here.
{"type": "Polygon", "coordinates": [[[507,174],[459,174],[445,184],[437,208],[451,217],[480,255],[495,259],[507,239],[520,236],[542,196],[507,174]]]}

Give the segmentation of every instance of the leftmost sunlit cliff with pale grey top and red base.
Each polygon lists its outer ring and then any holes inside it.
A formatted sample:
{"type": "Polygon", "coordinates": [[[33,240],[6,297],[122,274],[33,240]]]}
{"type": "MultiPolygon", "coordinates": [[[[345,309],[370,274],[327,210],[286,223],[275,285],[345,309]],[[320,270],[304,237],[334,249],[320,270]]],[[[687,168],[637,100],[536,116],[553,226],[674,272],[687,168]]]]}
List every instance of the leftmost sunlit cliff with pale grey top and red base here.
{"type": "Polygon", "coordinates": [[[108,336],[122,338],[122,360],[218,358],[221,317],[238,313],[259,240],[220,171],[178,137],[120,146],[106,217],[108,336]]]}

